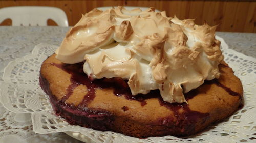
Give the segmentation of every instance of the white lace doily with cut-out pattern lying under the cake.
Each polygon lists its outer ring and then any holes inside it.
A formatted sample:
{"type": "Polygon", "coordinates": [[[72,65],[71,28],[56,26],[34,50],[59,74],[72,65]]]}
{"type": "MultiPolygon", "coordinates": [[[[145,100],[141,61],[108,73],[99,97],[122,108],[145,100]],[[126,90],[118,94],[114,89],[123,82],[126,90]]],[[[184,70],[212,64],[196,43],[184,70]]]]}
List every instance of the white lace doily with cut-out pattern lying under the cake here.
{"type": "MultiPolygon", "coordinates": [[[[218,38],[220,39],[220,38],[218,38]]],[[[0,101],[14,113],[31,113],[33,131],[39,134],[66,132],[86,142],[245,142],[256,139],[256,59],[228,49],[223,39],[222,50],[225,61],[235,71],[244,88],[245,105],[225,121],[212,124],[203,132],[186,138],[174,136],[148,137],[138,139],[115,132],[102,132],[80,126],[69,125],[55,116],[48,95],[39,86],[41,63],[50,56],[56,46],[39,44],[32,54],[12,61],[4,70],[1,83],[0,101]]],[[[0,114],[1,110],[0,110],[0,114]]],[[[8,117],[8,115],[6,115],[8,117]]],[[[26,118],[28,117],[17,117],[26,118]]],[[[0,119],[3,127],[8,125],[7,118],[0,119]]],[[[5,128],[3,130],[5,130],[5,128]]],[[[22,130],[22,129],[20,129],[22,130]]],[[[26,131],[26,129],[25,129],[26,131]]],[[[0,129],[1,132],[1,129],[0,129]]]]}

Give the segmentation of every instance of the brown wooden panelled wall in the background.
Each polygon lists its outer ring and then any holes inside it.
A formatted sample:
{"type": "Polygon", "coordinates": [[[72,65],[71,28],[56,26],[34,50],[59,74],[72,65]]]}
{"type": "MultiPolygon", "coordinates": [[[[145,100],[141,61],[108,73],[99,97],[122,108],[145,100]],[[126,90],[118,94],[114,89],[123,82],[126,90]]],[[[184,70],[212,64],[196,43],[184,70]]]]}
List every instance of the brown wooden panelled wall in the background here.
{"type": "MultiPolygon", "coordinates": [[[[81,14],[93,8],[103,6],[141,6],[155,7],[165,10],[168,16],[176,15],[179,19],[195,19],[196,24],[219,24],[217,31],[226,32],[256,32],[256,2],[255,1],[166,1],[166,0],[3,0],[0,8],[8,6],[53,6],[64,10],[67,14],[69,25],[73,26],[81,14]]],[[[7,22],[10,23],[10,22],[7,22]]]]}

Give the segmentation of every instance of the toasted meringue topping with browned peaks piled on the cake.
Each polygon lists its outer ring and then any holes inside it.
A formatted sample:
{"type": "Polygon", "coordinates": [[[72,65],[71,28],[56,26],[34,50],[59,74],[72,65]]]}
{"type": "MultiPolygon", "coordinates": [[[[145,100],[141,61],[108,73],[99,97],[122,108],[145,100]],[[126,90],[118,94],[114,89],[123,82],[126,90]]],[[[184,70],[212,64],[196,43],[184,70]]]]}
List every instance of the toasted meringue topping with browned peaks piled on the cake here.
{"type": "Polygon", "coordinates": [[[215,29],[154,8],[93,9],[67,33],[56,58],[86,60],[83,71],[91,78],[126,79],[135,96],[159,89],[164,101],[182,103],[183,93],[220,76],[223,55],[215,29]]]}

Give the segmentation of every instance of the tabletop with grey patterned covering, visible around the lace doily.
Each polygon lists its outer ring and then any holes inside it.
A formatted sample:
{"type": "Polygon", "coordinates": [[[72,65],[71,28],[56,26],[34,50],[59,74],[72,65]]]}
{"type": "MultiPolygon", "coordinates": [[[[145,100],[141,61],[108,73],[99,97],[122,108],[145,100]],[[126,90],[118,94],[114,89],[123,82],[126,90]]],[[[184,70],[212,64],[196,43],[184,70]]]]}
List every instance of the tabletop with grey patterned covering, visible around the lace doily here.
{"type": "MultiPolygon", "coordinates": [[[[31,53],[35,45],[60,45],[70,27],[14,27],[0,26],[0,82],[4,67],[16,58],[31,53]]],[[[256,58],[255,33],[217,32],[234,49],[256,58]]],[[[0,103],[0,142],[80,142],[65,133],[35,134],[29,114],[7,111],[0,103]]]]}

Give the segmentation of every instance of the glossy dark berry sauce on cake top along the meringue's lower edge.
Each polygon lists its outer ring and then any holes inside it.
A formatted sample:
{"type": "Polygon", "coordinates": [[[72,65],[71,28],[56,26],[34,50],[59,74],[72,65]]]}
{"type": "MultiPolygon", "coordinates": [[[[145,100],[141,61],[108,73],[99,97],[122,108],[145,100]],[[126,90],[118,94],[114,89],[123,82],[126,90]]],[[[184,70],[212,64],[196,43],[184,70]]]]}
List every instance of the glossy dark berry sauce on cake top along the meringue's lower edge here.
{"type": "MultiPolygon", "coordinates": [[[[127,100],[137,100],[140,102],[141,106],[145,106],[146,99],[149,98],[158,98],[160,105],[168,107],[172,107],[174,109],[175,103],[167,103],[164,102],[161,98],[159,90],[153,90],[148,94],[138,94],[136,96],[133,96],[131,93],[130,88],[127,85],[127,81],[120,82],[120,80],[114,80],[114,79],[94,79],[93,81],[88,78],[88,76],[83,72],[83,62],[77,63],[77,64],[55,64],[52,63],[52,65],[61,68],[62,70],[68,72],[71,74],[71,85],[67,88],[67,94],[61,99],[61,102],[65,102],[70,95],[73,93],[73,90],[78,85],[86,85],[88,88],[88,93],[84,96],[82,102],[79,104],[79,106],[86,106],[88,103],[90,103],[94,97],[95,97],[95,89],[97,88],[114,88],[114,94],[116,96],[124,96],[127,100]]],[[[241,96],[239,93],[232,91],[230,88],[226,87],[225,85],[218,82],[217,79],[206,81],[204,84],[216,84],[219,87],[222,87],[224,90],[226,90],[230,95],[232,96],[241,96]]],[[[191,90],[188,93],[185,93],[185,99],[188,101],[189,99],[192,99],[194,96],[198,94],[198,90],[191,90]]],[[[177,107],[183,107],[186,104],[179,104],[177,107]]]]}

